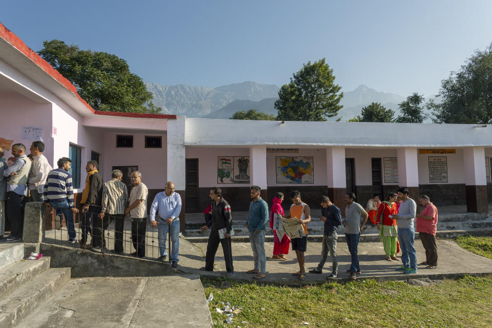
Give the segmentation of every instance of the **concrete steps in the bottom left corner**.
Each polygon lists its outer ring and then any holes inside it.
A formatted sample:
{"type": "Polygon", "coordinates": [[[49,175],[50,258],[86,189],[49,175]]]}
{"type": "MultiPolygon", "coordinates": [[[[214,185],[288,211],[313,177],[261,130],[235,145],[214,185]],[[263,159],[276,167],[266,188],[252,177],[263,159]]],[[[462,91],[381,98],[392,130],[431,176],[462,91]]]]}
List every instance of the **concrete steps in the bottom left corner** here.
{"type": "Polygon", "coordinates": [[[70,279],[70,268],[50,269],[49,257],[24,257],[24,244],[0,244],[0,328],[19,324],[70,279]]]}

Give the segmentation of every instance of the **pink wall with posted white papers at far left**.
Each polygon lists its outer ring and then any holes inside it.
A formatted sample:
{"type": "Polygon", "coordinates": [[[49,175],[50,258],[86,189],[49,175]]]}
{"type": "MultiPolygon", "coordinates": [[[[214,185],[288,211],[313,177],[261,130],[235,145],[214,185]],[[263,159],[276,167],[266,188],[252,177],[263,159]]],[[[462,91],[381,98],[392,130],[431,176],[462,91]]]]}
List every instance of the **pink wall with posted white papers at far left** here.
{"type": "MultiPolygon", "coordinates": [[[[0,137],[14,140],[12,144],[24,144],[26,153],[29,154],[29,147],[32,141],[23,140],[22,127],[42,127],[43,142],[45,143],[45,156],[53,165],[53,139],[51,138],[51,104],[38,103],[17,92],[0,93],[0,137]]],[[[12,149],[10,149],[12,150],[12,149]]],[[[10,151],[6,151],[5,159],[12,157],[10,151]]]]}

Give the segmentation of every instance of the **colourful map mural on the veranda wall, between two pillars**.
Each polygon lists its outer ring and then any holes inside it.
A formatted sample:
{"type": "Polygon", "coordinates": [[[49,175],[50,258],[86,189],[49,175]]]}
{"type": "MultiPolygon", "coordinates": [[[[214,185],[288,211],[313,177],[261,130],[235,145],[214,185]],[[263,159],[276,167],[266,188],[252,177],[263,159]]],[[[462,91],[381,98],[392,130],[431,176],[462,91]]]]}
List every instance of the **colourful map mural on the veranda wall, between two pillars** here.
{"type": "Polygon", "coordinates": [[[275,157],[277,183],[314,183],[313,157],[275,157]]]}

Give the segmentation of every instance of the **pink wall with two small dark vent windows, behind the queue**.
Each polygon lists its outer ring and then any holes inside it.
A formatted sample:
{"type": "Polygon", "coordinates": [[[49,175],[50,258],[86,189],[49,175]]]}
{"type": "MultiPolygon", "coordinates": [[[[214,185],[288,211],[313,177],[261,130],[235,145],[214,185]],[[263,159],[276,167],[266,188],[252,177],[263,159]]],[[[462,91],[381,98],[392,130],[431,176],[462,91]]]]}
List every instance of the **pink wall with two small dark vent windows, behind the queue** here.
{"type": "MultiPolygon", "coordinates": [[[[95,128],[94,128],[95,129],[95,128]]],[[[142,182],[149,189],[164,189],[167,181],[167,138],[166,133],[132,133],[115,132],[111,129],[104,131],[103,142],[99,141],[104,149],[101,151],[103,162],[103,178],[111,179],[113,166],[138,166],[142,174],[142,182]],[[116,135],[133,135],[133,148],[116,148],[116,135]],[[145,148],[145,136],[162,136],[162,148],[145,148]]],[[[185,174],[185,168],[183,168],[185,174]]],[[[185,189],[183,186],[182,189],[185,189]]]]}

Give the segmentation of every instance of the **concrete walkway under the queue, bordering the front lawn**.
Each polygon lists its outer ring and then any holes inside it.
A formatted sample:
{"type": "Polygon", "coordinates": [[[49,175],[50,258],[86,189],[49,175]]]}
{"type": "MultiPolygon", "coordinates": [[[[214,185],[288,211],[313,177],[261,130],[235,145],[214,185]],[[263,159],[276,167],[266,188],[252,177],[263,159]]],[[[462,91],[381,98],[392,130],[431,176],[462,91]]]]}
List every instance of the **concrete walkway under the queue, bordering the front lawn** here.
{"type": "MultiPolygon", "coordinates": [[[[420,240],[415,241],[417,249],[417,263],[425,260],[425,251],[420,240]]],[[[223,262],[222,249],[216,255],[214,272],[198,270],[205,265],[204,252],[207,249],[206,243],[190,243],[184,239],[180,240],[180,261],[178,269],[189,273],[197,273],[207,276],[223,276],[226,272],[226,265],[223,262]]],[[[323,274],[306,274],[304,281],[299,281],[292,274],[299,270],[295,252],[290,251],[286,257],[289,260],[274,260],[271,258],[273,252],[273,242],[265,243],[267,251],[267,278],[259,280],[270,283],[280,283],[287,285],[322,283],[326,276],[331,273],[332,263],[330,256],[323,268],[323,274]],[[270,258],[269,258],[270,257],[270,258]]],[[[359,244],[359,261],[361,275],[358,279],[375,278],[381,280],[402,280],[407,278],[422,278],[431,275],[432,277],[453,277],[454,275],[469,274],[492,274],[492,260],[470,253],[459,247],[452,240],[438,240],[439,263],[437,269],[425,269],[426,265],[419,265],[418,274],[405,275],[395,269],[401,267],[401,261],[389,262],[385,259],[383,245],[381,242],[362,242],[359,244]]],[[[232,254],[234,257],[233,279],[255,281],[253,275],[245,273],[254,269],[253,256],[249,242],[232,243],[232,254]]],[[[305,253],[305,269],[309,271],[317,267],[321,254],[320,242],[308,242],[308,251],[305,253]]],[[[339,261],[338,281],[349,278],[346,270],[350,268],[351,256],[348,252],[346,243],[338,243],[337,254],[339,261]]],[[[397,255],[398,258],[401,253],[397,255]]]]}

